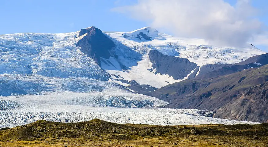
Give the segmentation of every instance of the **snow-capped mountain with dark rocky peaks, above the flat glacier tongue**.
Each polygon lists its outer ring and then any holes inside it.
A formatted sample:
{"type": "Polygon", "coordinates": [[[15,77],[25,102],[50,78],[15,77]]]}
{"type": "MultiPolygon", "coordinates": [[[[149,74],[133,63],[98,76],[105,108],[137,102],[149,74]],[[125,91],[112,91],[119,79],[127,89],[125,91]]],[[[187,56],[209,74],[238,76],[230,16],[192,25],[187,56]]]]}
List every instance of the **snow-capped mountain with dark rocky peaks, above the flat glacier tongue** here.
{"type": "Polygon", "coordinates": [[[91,92],[135,84],[160,88],[198,75],[202,65],[232,64],[263,53],[250,44],[216,47],[150,27],[132,32],[89,27],[62,34],[0,35],[0,86],[5,87],[0,94],[91,92]]]}

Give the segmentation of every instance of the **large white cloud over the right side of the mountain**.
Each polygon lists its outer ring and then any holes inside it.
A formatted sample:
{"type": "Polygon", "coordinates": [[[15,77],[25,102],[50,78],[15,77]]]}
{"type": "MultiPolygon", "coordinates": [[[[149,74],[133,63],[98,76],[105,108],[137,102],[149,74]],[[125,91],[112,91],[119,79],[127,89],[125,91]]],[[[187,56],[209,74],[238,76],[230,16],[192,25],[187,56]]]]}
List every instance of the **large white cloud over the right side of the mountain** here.
{"type": "Polygon", "coordinates": [[[238,0],[235,6],[223,0],[139,0],[113,10],[176,36],[203,38],[221,46],[242,46],[263,29],[249,0],[238,0]]]}

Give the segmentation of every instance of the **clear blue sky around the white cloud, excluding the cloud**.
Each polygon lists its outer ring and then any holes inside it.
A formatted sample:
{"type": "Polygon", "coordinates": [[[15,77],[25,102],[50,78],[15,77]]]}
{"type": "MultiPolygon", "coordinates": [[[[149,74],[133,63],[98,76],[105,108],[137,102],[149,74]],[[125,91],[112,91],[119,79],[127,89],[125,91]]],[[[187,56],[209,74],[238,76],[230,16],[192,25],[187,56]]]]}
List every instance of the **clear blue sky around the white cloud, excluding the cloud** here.
{"type": "MultiPolygon", "coordinates": [[[[0,34],[74,32],[92,25],[102,31],[132,31],[151,24],[111,9],[135,5],[137,2],[138,0],[1,0],[0,34]]],[[[233,6],[236,4],[236,0],[225,2],[233,6]]],[[[268,26],[268,1],[253,0],[251,3],[259,11],[254,17],[268,26]]],[[[171,34],[168,29],[157,29],[171,34]]],[[[267,44],[259,43],[256,46],[268,51],[267,44]]]]}

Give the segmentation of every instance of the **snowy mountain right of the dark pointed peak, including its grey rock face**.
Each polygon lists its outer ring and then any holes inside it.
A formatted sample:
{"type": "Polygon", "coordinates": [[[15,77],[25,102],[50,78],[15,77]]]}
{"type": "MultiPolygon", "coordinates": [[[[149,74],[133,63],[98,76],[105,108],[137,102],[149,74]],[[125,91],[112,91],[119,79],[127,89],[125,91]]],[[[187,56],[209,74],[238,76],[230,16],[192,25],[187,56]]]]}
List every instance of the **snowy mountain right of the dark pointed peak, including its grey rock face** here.
{"type": "Polygon", "coordinates": [[[104,33],[116,44],[112,49],[116,57],[104,59],[106,64],[101,67],[113,82],[125,86],[135,81],[160,88],[195,77],[203,65],[233,64],[265,53],[251,44],[240,48],[217,47],[202,39],[178,38],[150,27],[104,33]]]}

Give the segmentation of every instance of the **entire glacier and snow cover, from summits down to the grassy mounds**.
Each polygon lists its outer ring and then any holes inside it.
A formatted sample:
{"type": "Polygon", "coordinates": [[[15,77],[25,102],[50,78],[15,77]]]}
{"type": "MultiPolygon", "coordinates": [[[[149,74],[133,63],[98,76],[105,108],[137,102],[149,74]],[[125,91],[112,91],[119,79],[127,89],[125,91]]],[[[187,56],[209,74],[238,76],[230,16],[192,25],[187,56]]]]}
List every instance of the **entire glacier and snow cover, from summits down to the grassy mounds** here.
{"type": "Polygon", "coordinates": [[[149,60],[150,50],[202,66],[233,64],[264,53],[253,45],[217,47],[150,27],[103,33],[115,43],[111,53],[117,58],[101,58],[101,66],[75,45],[81,39],[79,31],[0,35],[0,127],[40,119],[70,123],[94,118],[154,125],[256,124],[216,119],[212,112],[200,110],[164,109],[161,107],[167,102],[128,88],[129,81],[160,88],[190,75],[175,80],[156,73],[149,60]]]}

